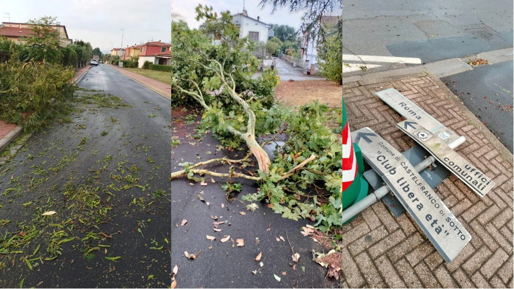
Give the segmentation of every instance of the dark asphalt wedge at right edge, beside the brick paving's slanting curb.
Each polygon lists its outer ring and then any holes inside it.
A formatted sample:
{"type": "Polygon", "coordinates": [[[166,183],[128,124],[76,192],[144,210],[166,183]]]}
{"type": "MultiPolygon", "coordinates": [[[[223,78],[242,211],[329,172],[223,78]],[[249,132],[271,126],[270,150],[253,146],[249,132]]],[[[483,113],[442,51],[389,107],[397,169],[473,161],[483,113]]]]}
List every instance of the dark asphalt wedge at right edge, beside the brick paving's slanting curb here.
{"type": "Polygon", "coordinates": [[[473,70],[441,78],[464,105],[498,137],[512,153],[514,104],[512,61],[475,66],[473,70]],[[506,105],[510,105],[506,107],[506,105]],[[486,108],[487,107],[487,108],[486,108]]]}

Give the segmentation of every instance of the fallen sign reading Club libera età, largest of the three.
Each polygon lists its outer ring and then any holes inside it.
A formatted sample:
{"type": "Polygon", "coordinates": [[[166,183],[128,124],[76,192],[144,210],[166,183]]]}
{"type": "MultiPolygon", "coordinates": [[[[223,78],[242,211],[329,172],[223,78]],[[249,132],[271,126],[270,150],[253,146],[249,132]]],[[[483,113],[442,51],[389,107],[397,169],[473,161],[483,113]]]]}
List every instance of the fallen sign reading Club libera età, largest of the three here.
{"type": "Polygon", "coordinates": [[[377,171],[446,262],[471,235],[416,172],[405,156],[370,128],[352,132],[366,161],[377,171]]]}

